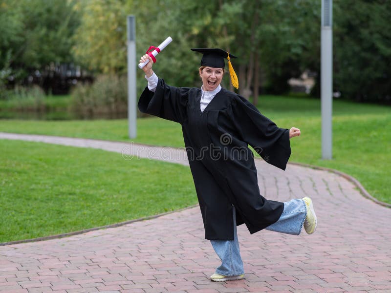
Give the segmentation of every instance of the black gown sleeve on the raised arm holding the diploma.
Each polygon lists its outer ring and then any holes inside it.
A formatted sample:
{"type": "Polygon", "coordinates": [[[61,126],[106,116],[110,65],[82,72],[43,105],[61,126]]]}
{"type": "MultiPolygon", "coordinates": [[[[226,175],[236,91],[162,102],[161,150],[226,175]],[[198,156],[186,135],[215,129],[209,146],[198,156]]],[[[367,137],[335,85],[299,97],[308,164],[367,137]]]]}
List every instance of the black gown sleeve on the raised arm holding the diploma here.
{"type": "Polygon", "coordinates": [[[189,89],[170,86],[159,79],[155,92],[150,91],[148,86],[144,89],[138,101],[138,108],[142,113],[182,124],[186,119],[189,89]]]}

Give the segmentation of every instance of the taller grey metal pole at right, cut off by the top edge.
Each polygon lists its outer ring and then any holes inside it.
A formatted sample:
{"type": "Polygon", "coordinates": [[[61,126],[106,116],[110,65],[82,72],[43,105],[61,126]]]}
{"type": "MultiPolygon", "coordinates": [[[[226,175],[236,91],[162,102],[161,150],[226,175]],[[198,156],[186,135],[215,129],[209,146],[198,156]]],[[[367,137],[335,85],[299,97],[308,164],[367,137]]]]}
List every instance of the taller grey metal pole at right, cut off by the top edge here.
{"type": "Polygon", "coordinates": [[[333,31],[332,0],[322,0],[321,31],[321,107],[322,159],[332,159],[332,99],[333,99],[333,31]]]}

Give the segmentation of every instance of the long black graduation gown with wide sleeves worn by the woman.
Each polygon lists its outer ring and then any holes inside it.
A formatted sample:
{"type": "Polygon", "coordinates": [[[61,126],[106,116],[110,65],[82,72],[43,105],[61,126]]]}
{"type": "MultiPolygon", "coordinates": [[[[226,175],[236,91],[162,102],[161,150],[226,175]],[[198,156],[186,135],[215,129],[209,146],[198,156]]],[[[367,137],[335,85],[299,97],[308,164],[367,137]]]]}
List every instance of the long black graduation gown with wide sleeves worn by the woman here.
{"type": "Polygon", "coordinates": [[[203,112],[200,100],[200,88],[174,87],[159,79],[154,93],[145,88],[138,108],[182,125],[205,238],[234,240],[233,207],[237,225],[244,223],[250,233],[280,218],[283,203],[261,196],[248,145],[284,170],[291,153],[289,130],[277,127],[246,99],[224,88],[203,112]]]}

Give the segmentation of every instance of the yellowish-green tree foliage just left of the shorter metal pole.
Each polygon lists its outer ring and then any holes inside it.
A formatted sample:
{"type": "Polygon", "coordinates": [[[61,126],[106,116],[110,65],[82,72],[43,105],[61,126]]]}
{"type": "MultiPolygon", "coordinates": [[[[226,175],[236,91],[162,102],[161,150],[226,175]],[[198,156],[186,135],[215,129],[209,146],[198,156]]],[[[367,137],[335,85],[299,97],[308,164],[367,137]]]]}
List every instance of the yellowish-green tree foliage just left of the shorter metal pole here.
{"type": "Polygon", "coordinates": [[[124,0],[76,1],[81,25],[73,37],[77,61],[103,73],[126,72],[126,9],[124,0]]]}

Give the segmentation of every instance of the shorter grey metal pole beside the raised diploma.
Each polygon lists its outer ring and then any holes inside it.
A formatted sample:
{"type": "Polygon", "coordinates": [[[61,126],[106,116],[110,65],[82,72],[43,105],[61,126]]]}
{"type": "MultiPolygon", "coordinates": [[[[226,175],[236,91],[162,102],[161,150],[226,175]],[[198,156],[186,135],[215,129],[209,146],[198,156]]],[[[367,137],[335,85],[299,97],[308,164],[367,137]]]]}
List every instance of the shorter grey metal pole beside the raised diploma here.
{"type": "Polygon", "coordinates": [[[127,17],[128,29],[128,122],[129,138],[136,137],[136,20],[127,17]]]}

